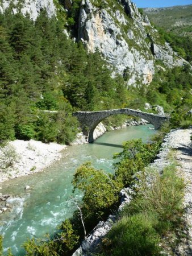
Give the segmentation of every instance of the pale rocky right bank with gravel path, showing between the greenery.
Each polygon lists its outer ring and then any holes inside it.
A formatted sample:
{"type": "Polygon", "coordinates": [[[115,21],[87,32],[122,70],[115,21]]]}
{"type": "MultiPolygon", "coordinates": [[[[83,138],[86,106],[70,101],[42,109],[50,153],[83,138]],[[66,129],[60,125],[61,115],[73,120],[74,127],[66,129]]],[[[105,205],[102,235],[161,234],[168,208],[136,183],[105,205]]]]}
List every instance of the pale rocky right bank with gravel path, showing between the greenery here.
{"type": "MultiPolygon", "coordinates": [[[[192,147],[190,136],[192,134],[192,127],[190,129],[176,129],[172,130],[166,135],[162,143],[161,151],[157,155],[157,159],[151,164],[158,171],[162,171],[165,166],[168,166],[173,160],[177,160],[180,168],[180,174],[186,181],[185,198],[183,204],[185,205],[185,229],[186,234],[182,243],[178,245],[176,251],[177,255],[191,255],[192,253],[192,147]],[[174,150],[174,154],[173,154],[174,150]],[[172,155],[173,154],[173,155],[172,155]]],[[[132,191],[129,188],[123,189],[120,193],[122,204],[119,209],[122,209],[124,204],[130,203],[132,198],[132,191]]],[[[76,250],[73,256],[87,255],[90,252],[97,252],[98,246],[102,239],[114,225],[116,216],[109,216],[106,222],[99,222],[93,232],[87,236],[81,246],[76,250]]]]}

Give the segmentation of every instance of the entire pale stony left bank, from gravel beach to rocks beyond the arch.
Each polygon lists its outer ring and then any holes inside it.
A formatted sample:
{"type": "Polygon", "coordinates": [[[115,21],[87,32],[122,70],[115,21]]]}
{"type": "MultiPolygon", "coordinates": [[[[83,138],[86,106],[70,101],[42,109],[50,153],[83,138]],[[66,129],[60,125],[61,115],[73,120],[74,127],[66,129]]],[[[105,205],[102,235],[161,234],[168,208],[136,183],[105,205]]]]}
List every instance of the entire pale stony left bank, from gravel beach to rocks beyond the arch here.
{"type": "MultiPolygon", "coordinates": [[[[119,130],[126,126],[146,125],[147,123],[144,119],[139,121],[128,119],[122,126],[111,126],[109,130],[119,130]]],[[[107,129],[103,123],[99,123],[94,130],[94,139],[97,139],[106,131],[107,129]]],[[[78,133],[77,138],[71,144],[85,143],[88,143],[86,136],[83,133],[78,133]]],[[[5,148],[0,150],[0,183],[43,171],[62,157],[62,150],[66,147],[62,144],[46,144],[34,140],[9,142],[5,148]]]]}

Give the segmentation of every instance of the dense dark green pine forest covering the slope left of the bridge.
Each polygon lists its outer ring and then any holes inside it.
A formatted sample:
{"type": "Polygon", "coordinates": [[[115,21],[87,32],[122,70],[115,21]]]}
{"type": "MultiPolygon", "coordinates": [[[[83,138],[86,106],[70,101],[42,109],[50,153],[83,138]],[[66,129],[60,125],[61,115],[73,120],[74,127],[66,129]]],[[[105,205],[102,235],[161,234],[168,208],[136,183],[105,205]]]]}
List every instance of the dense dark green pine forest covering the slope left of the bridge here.
{"type": "MultiPolygon", "coordinates": [[[[77,21],[80,2],[73,1],[68,18],[77,21]]],[[[69,113],[119,108],[126,101],[124,80],[111,78],[101,53],[88,54],[82,43],[66,38],[62,22],[45,11],[35,22],[11,9],[0,14],[0,142],[70,143],[77,121],[69,113]]]]}

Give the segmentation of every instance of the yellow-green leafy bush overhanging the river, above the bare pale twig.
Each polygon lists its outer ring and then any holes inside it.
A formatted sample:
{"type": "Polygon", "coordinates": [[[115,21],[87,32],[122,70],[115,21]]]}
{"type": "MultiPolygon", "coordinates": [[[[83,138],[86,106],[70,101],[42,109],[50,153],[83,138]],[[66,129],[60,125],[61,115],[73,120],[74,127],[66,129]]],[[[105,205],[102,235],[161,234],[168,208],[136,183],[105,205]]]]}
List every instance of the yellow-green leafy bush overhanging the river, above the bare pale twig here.
{"type": "Polygon", "coordinates": [[[73,185],[74,189],[84,192],[82,212],[85,219],[101,217],[106,209],[118,201],[118,185],[112,175],[95,170],[90,162],[77,169],[73,185]]]}

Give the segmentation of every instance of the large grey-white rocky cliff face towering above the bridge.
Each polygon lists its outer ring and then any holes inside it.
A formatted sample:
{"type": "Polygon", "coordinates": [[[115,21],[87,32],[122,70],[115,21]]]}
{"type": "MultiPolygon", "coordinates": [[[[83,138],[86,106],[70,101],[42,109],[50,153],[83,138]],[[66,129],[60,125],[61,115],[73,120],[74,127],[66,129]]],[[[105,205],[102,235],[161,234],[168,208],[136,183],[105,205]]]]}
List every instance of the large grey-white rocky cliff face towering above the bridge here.
{"type": "Polygon", "coordinates": [[[159,43],[158,32],[130,0],[83,0],[78,40],[90,52],[99,49],[128,85],[151,82],[155,60],[168,67],[183,63],[168,44],[159,43]]]}

